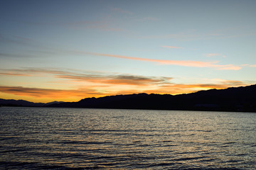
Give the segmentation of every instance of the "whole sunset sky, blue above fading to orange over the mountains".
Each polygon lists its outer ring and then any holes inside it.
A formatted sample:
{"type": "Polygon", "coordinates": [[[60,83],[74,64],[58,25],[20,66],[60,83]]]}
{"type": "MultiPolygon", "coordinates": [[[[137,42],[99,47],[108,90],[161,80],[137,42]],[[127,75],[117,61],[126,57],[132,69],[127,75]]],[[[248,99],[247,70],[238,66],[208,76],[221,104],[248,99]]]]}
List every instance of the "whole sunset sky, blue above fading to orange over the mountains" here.
{"type": "Polygon", "coordinates": [[[255,0],[1,1],[0,98],[256,84],[255,0]]]}

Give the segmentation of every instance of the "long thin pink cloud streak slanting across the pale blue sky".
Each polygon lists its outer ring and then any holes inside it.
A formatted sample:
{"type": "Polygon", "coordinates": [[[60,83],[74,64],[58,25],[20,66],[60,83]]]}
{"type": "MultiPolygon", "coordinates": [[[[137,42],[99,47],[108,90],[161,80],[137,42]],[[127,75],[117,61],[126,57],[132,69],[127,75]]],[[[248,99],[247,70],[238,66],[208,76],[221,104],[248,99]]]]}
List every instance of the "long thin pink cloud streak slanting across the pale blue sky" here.
{"type": "Polygon", "coordinates": [[[154,62],[157,64],[169,64],[169,65],[178,65],[178,66],[184,66],[184,67],[209,67],[209,68],[215,68],[220,70],[238,70],[242,67],[235,66],[233,64],[225,64],[220,65],[216,64],[218,62],[201,62],[201,61],[190,61],[190,60],[157,60],[157,59],[147,59],[147,58],[139,58],[139,57],[127,57],[123,55],[107,55],[107,54],[100,54],[95,52],[82,52],[84,54],[89,55],[99,55],[99,56],[106,56],[106,57],[116,57],[116,58],[122,58],[122,59],[128,59],[128,60],[139,60],[143,62],[154,62]]]}

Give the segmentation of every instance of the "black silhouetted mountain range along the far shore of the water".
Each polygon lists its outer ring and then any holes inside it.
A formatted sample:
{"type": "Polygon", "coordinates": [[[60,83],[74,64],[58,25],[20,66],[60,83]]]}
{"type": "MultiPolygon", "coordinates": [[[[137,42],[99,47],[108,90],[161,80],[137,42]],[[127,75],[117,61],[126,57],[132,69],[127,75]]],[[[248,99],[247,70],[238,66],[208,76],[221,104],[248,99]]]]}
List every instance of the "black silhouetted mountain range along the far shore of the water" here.
{"type": "Polygon", "coordinates": [[[57,108],[123,108],[186,111],[256,112],[256,84],[210,89],[191,94],[129,94],[84,98],[78,102],[33,103],[0,99],[1,106],[43,106],[57,108]]]}

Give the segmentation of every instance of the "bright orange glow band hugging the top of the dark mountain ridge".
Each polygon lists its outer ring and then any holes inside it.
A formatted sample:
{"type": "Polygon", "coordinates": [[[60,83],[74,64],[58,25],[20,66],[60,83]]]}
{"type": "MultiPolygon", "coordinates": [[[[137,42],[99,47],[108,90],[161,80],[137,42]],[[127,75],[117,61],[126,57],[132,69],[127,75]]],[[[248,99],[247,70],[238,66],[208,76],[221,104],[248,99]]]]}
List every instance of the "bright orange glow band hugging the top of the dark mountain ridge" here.
{"type": "MultiPolygon", "coordinates": [[[[234,82],[237,83],[237,82],[234,82]]],[[[244,84],[245,85],[245,84],[244,84]]],[[[241,86],[241,84],[237,84],[241,86]]],[[[51,101],[80,101],[82,98],[99,98],[103,96],[125,95],[125,94],[189,94],[196,91],[208,89],[226,89],[230,87],[228,84],[172,84],[149,86],[142,89],[120,89],[118,86],[108,89],[108,91],[97,91],[94,89],[74,89],[74,90],[56,90],[56,89],[40,89],[26,88],[21,86],[0,86],[1,98],[4,99],[23,99],[32,102],[51,102],[51,101]],[[126,89],[126,90],[125,90],[126,89]]]]}

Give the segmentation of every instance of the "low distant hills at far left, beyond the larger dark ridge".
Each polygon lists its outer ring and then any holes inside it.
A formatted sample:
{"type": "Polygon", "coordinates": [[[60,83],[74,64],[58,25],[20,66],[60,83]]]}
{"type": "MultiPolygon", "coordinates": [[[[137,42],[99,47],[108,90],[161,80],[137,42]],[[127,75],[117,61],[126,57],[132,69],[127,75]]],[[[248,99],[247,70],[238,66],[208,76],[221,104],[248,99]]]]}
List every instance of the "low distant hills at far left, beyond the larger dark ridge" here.
{"type": "Polygon", "coordinates": [[[29,106],[29,107],[41,107],[41,106],[48,106],[51,104],[62,103],[63,101],[53,101],[50,103],[33,103],[30,101],[23,101],[23,100],[6,100],[0,98],[0,106],[29,106]]]}

